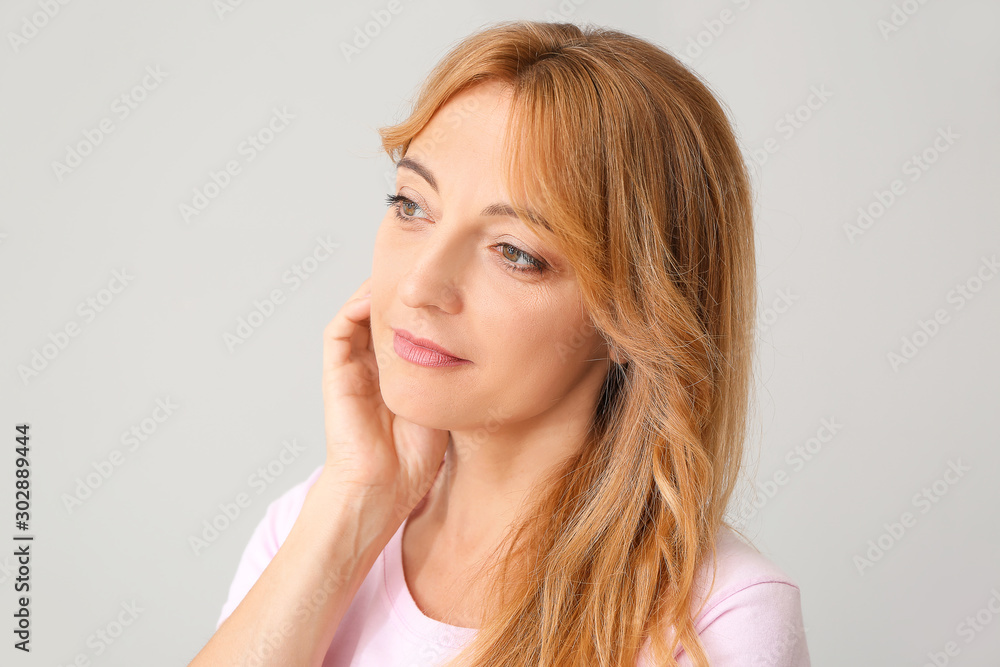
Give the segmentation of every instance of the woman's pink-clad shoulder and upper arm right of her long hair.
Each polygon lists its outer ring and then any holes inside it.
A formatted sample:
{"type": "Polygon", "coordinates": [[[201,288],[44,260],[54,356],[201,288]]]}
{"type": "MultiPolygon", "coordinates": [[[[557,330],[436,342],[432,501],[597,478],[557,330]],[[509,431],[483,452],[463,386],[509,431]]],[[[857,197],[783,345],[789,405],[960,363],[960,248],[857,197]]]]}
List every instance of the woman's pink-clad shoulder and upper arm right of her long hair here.
{"type": "Polygon", "coordinates": [[[695,631],[713,664],[810,664],[798,583],[727,527],[716,559],[699,573],[695,610],[695,631]]]}

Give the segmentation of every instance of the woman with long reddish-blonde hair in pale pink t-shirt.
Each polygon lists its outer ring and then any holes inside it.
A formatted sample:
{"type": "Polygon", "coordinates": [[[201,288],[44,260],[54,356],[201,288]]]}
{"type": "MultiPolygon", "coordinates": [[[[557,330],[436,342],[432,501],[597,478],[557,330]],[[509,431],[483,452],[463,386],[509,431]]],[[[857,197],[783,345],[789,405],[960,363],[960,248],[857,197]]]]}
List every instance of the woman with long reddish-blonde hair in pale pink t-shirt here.
{"type": "Polygon", "coordinates": [[[798,587],[724,519],[755,260],[706,85],[628,34],[507,22],[381,137],[327,460],[191,664],[809,665],[798,587]]]}

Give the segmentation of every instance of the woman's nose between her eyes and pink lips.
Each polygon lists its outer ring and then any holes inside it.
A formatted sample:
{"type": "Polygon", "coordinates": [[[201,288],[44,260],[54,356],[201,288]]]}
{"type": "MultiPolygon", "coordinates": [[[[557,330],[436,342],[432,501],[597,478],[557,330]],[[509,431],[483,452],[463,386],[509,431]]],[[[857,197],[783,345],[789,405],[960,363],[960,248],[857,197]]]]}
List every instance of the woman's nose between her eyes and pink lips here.
{"type": "Polygon", "coordinates": [[[421,243],[410,248],[412,261],[399,281],[399,298],[413,309],[434,307],[454,314],[461,309],[471,253],[462,239],[448,238],[442,227],[436,223],[421,243]]]}

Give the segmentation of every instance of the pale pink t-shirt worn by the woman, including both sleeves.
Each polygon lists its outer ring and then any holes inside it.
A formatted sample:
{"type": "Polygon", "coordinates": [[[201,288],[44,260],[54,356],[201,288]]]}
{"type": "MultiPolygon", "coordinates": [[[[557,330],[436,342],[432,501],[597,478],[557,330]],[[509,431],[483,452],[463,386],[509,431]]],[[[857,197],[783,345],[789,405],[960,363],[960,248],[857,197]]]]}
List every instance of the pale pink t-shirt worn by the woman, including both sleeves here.
{"type": "MultiPolygon", "coordinates": [[[[288,537],[306,492],[321,470],[322,466],[316,468],[268,505],[240,558],[216,629],[288,537]]],[[[476,629],[441,623],[417,607],[403,577],[405,526],[406,521],[365,577],[337,628],[323,667],[436,667],[475,636],[476,629]]],[[[712,667],[810,667],[799,587],[728,529],[719,534],[717,549],[715,586],[695,620],[712,667]]],[[[703,571],[697,603],[709,583],[711,571],[707,575],[703,571]]],[[[638,667],[651,667],[648,650],[647,639],[638,667]]],[[[691,664],[682,649],[676,658],[682,666],[691,664]]]]}

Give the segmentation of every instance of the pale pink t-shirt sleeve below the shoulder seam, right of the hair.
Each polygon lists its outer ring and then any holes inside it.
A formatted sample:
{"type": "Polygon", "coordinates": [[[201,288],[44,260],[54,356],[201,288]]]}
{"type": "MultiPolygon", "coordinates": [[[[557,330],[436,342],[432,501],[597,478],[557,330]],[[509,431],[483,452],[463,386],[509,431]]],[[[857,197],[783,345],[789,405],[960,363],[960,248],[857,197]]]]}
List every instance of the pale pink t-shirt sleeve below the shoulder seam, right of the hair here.
{"type": "MultiPolygon", "coordinates": [[[[712,667],[811,667],[794,583],[749,584],[720,600],[702,622],[698,637],[712,667]]],[[[682,652],[679,664],[692,663],[682,652]]]]}

